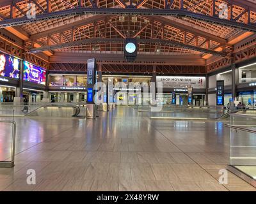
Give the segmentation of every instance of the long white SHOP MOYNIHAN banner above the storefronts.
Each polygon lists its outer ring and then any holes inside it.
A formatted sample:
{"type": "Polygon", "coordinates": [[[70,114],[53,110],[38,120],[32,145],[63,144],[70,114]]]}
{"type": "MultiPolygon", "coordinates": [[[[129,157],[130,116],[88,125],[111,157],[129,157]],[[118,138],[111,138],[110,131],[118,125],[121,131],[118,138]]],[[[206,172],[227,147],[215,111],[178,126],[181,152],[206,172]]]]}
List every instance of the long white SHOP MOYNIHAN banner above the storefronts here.
{"type": "Polygon", "coordinates": [[[205,89],[205,77],[157,76],[156,82],[162,82],[164,88],[193,87],[194,89],[205,89]]]}

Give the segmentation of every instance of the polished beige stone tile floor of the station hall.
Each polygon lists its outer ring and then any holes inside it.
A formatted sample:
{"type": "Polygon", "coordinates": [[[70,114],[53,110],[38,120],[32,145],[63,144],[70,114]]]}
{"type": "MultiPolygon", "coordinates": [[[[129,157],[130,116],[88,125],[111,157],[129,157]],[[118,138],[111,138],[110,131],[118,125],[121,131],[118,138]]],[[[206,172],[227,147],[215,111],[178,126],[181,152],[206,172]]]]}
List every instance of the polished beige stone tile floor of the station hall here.
{"type": "MultiPolygon", "coordinates": [[[[2,118],[6,120],[6,118],[2,118]]],[[[1,120],[2,120],[1,119],[1,120]]],[[[0,168],[0,191],[255,191],[228,172],[223,122],[149,119],[129,107],[96,120],[20,117],[14,168],[0,168]],[[27,184],[27,171],[36,184],[27,184]]],[[[0,124],[0,160],[10,127],[0,124]]]]}

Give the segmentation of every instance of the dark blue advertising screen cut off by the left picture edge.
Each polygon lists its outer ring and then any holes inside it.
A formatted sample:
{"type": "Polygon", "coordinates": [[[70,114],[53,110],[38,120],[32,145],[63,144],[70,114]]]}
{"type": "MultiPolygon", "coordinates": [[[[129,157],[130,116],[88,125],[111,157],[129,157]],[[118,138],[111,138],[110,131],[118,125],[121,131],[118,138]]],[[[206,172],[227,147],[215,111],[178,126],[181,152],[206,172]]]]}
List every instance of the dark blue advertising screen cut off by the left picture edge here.
{"type": "Polygon", "coordinates": [[[8,54],[0,52],[0,76],[19,78],[20,60],[8,54]]]}

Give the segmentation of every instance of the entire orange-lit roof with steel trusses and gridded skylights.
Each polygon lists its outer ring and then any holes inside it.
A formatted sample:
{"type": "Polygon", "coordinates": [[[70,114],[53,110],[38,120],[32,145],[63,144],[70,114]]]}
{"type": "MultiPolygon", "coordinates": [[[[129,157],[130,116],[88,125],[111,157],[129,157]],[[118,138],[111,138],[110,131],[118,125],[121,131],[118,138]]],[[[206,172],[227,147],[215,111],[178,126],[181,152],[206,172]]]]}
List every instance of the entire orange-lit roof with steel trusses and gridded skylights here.
{"type": "Polygon", "coordinates": [[[102,61],[120,63],[124,39],[137,38],[140,62],[156,57],[159,63],[170,64],[168,57],[174,56],[180,59],[177,64],[193,65],[191,57],[194,57],[195,64],[203,66],[212,56],[232,58],[234,45],[256,32],[256,3],[253,0],[3,0],[0,27],[22,38],[27,54],[44,52],[49,62],[61,62],[71,53],[74,56],[79,53],[81,57],[100,54],[102,61]]]}

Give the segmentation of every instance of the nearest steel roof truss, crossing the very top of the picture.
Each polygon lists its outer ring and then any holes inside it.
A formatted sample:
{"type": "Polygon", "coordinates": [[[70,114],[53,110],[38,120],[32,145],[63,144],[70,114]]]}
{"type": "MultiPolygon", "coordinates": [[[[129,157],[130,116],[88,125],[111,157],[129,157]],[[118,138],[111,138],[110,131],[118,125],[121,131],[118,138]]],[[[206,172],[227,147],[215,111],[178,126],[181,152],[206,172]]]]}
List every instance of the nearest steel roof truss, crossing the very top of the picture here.
{"type": "MultiPolygon", "coordinates": [[[[230,0],[16,0],[2,4],[0,27],[22,25],[39,20],[83,14],[111,15],[172,15],[204,20],[214,24],[228,25],[256,31],[256,8],[243,1],[230,0]],[[28,18],[28,4],[36,5],[36,17],[28,18]],[[218,17],[220,4],[228,5],[228,19],[218,17]]],[[[253,4],[253,3],[251,3],[253,4]]],[[[1,4],[0,4],[1,6],[1,4]]]]}

